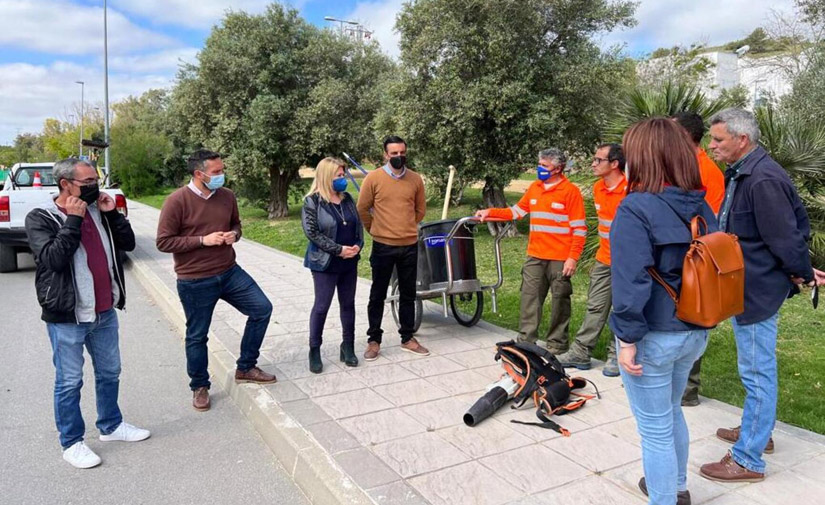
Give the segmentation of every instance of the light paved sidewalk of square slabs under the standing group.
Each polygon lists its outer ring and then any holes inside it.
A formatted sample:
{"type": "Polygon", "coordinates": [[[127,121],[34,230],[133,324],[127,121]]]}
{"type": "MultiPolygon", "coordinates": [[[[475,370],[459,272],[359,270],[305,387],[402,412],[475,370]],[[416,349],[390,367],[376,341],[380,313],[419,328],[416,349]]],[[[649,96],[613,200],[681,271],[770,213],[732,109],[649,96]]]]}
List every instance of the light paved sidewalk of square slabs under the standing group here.
{"type": "MultiPolygon", "coordinates": [[[[154,245],[158,215],[155,209],[130,202],[129,217],[138,235],[135,269],[143,272],[138,275],[143,282],[155,284],[150,292],[180,327],[172,257],[154,245]]],[[[275,307],[261,364],[277,374],[279,382],[233,389],[226,380],[245,318],[222,302],[213,320],[210,367],[219,381],[229,384],[232,397],[284,466],[294,466],[293,478],[313,502],[645,503],[636,485],[642,475],[639,437],[620,379],[608,379],[600,369],[579,374],[598,385],[602,399],[558,419],[572,432],[569,438],[509,422],[535,421],[531,408],[504,408],[468,428],[462,415],[500,374],[493,361],[494,344],[512,333],[485,324],[464,328],[425,309],[417,338],[432,355],[416,357],[399,348],[388,307],[384,328],[389,331],[381,357],[347,368],[337,359],[341,326],[333,305],[322,348],[324,372],[313,375],[307,364],[313,302],[309,272],[300,259],[254,242],[242,240],[236,251],[239,264],[275,307]],[[311,477],[304,475],[304,466],[311,468],[311,477]]],[[[368,292],[369,282],[359,280],[359,356],[366,346],[368,292]]],[[[768,478],[758,484],[724,485],[697,472],[700,464],[718,460],[730,448],[714,434],[718,427],[736,426],[739,410],[705,400],[685,409],[685,416],[691,435],[688,485],[694,504],[825,501],[825,437],[779,424],[774,432],[776,453],[766,455],[768,478]]]]}

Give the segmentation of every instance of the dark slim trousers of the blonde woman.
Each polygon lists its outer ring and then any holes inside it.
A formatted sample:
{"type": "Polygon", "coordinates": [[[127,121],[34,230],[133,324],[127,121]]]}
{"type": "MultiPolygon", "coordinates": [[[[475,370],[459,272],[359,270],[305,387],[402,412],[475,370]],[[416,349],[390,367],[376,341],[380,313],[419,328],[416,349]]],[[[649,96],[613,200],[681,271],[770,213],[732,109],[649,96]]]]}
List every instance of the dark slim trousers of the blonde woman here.
{"type": "Polygon", "coordinates": [[[324,335],[332,295],[338,289],[338,306],[341,311],[341,327],[344,342],[355,341],[355,287],[358,284],[358,269],[341,273],[312,272],[315,284],[315,303],[309,318],[309,346],[320,347],[324,335]]]}

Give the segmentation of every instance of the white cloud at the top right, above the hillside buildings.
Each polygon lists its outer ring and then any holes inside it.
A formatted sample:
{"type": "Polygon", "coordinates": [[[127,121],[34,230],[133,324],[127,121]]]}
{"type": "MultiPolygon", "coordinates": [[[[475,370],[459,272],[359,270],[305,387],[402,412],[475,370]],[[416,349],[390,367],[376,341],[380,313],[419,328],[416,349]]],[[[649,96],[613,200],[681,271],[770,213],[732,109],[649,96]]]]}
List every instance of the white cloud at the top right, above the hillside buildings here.
{"type": "Polygon", "coordinates": [[[636,56],[657,47],[722,44],[765,26],[771,9],[790,13],[793,7],[794,0],[641,0],[637,25],[605,36],[603,45],[627,43],[636,56]]]}

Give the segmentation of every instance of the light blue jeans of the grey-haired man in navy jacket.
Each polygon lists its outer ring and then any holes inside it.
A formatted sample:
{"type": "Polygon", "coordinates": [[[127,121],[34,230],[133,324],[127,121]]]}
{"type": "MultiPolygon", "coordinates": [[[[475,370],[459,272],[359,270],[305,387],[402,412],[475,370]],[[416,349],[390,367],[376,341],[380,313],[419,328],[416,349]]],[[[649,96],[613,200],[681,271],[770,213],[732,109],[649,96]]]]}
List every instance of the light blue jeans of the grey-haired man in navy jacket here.
{"type": "Polygon", "coordinates": [[[737,324],[732,318],[736,338],[739,377],[745,386],[742,431],[733,445],[733,459],[752,472],[765,472],[762,451],[776,423],[776,334],[779,313],[754,324],[737,324]]]}

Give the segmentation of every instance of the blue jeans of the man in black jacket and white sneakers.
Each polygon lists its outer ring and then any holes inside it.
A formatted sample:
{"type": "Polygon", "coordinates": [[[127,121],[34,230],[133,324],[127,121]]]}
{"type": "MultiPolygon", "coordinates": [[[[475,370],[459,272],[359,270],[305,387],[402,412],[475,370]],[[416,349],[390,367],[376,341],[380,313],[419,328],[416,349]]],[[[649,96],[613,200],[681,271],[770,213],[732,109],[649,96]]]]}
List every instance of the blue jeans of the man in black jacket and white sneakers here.
{"type": "Polygon", "coordinates": [[[86,424],[80,413],[83,387],[83,347],[95,371],[97,429],[108,435],[123,422],[117,405],[120,388],[118,322],[114,309],[97,315],[92,323],[46,323],[54,363],[54,421],[64,449],[83,440],[86,424]]]}

